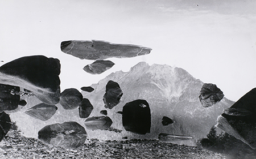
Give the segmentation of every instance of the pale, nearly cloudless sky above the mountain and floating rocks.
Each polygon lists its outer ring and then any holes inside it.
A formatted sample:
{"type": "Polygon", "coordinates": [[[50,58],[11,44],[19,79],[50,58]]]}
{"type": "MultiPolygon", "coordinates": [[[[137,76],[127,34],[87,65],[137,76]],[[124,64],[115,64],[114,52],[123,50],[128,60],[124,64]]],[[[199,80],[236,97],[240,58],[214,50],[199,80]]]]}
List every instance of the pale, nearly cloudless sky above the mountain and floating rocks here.
{"type": "Polygon", "coordinates": [[[237,101],[256,87],[256,1],[0,1],[0,66],[28,55],[60,59],[61,90],[89,86],[145,61],[184,68],[237,101]],[[151,48],[148,55],[110,58],[101,75],[93,61],[63,53],[61,41],[104,40],[151,48]]]}

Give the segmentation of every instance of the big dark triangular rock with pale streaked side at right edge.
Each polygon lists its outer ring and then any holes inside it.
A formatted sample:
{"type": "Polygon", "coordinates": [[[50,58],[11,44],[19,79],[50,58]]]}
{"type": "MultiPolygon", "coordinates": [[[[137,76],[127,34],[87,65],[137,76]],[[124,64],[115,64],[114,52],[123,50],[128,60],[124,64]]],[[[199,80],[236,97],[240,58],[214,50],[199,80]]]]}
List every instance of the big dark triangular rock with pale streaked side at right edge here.
{"type": "Polygon", "coordinates": [[[256,149],[256,88],[242,96],[230,109],[224,110],[217,127],[256,149]]]}

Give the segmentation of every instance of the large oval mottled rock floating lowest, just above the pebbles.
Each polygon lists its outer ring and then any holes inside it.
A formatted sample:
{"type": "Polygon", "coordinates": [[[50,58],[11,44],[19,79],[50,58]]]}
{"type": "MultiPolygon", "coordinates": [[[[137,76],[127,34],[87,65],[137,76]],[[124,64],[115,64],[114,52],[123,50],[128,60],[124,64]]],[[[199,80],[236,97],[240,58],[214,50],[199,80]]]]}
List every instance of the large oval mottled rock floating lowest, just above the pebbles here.
{"type": "Polygon", "coordinates": [[[86,131],[77,122],[56,123],[43,127],[38,139],[55,147],[78,148],[85,143],[86,131]]]}

